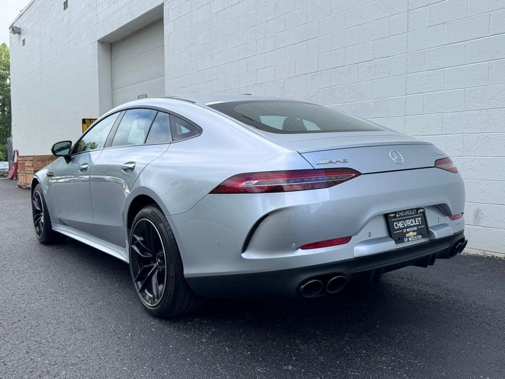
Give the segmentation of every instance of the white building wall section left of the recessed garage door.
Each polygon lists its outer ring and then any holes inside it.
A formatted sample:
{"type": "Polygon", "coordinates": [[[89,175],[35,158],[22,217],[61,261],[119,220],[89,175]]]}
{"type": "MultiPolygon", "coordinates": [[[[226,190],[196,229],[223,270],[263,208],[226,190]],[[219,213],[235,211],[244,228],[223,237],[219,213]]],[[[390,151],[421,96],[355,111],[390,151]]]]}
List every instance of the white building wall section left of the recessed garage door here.
{"type": "Polygon", "coordinates": [[[20,155],[51,154],[55,141],[79,137],[82,118],[111,108],[110,66],[109,75],[100,72],[100,85],[98,75],[99,64],[110,65],[110,48],[100,46],[99,59],[98,40],[163,1],[68,4],[64,11],[63,1],[34,0],[14,22],[21,34],[10,39],[12,133],[20,155]]]}

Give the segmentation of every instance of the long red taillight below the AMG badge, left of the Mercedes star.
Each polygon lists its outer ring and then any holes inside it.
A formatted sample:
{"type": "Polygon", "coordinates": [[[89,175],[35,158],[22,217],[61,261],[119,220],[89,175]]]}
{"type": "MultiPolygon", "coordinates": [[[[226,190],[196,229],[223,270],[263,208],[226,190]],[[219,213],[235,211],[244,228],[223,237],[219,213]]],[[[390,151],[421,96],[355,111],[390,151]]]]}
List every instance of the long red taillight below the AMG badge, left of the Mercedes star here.
{"type": "Polygon", "coordinates": [[[328,188],[361,175],[350,168],[249,172],[232,176],[211,194],[259,194],[328,188]]]}

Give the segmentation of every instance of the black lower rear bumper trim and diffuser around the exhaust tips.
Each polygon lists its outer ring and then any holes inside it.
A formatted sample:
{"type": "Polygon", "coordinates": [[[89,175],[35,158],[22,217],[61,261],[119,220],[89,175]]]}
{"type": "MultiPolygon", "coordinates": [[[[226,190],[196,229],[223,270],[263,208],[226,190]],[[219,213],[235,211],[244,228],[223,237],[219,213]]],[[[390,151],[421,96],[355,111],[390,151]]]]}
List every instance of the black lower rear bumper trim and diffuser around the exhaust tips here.
{"type": "MultiPolygon", "coordinates": [[[[266,272],[192,276],[186,277],[186,280],[197,294],[205,297],[295,297],[301,296],[300,285],[311,279],[321,280],[324,285],[330,278],[339,275],[345,277],[346,283],[358,279],[372,281],[384,272],[402,267],[428,267],[436,259],[451,258],[460,252],[455,252],[454,248],[465,241],[461,231],[438,240],[338,262],[266,272]]],[[[324,289],[320,292],[325,293],[324,289]]]]}

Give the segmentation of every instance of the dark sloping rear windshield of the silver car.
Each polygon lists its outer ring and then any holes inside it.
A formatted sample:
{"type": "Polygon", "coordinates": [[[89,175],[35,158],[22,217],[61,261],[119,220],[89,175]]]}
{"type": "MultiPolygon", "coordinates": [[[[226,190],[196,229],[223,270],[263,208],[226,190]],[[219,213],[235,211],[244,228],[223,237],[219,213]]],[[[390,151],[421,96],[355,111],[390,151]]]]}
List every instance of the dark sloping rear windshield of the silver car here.
{"type": "Polygon", "coordinates": [[[328,133],[381,131],[363,120],[320,105],[294,101],[243,101],[209,107],[234,119],[272,133],[328,133]]]}

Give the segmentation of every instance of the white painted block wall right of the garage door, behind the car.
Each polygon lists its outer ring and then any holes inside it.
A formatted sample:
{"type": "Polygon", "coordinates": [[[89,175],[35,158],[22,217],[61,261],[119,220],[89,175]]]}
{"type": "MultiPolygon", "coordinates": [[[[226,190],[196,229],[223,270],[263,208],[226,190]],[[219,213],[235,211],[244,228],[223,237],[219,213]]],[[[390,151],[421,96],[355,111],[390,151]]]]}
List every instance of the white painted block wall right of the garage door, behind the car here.
{"type": "MultiPolygon", "coordinates": [[[[166,7],[167,8],[167,7],[166,7]]],[[[505,0],[175,0],[167,92],[315,102],[435,143],[469,248],[505,253],[505,0]]]]}

